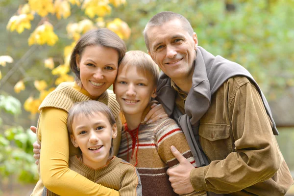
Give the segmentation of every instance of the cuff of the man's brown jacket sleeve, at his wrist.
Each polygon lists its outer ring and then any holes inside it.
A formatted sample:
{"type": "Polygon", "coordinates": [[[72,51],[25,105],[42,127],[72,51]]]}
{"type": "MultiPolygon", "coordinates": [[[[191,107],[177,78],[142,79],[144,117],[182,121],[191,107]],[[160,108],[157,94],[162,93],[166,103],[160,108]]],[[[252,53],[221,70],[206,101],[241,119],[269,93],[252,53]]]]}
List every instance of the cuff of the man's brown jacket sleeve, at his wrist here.
{"type": "Polygon", "coordinates": [[[190,172],[190,182],[196,192],[207,189],[204,179],[205,168],[205,166],[200,168],[194,168],[190,172]]]}

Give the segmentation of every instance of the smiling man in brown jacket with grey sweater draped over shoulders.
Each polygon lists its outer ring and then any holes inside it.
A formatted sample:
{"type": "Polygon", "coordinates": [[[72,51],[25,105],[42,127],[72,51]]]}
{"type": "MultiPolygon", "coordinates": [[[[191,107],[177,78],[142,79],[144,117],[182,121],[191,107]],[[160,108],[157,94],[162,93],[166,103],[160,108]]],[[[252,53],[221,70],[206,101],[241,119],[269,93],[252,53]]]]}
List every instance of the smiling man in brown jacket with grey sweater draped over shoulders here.
{"type": "Polygon", "coordinates": [[[171,147],[180,161],[168,170],[174,191],[285,195],[294,181],[268,103],[250,73],[197,46],[196,33],[180,14],[156,14],[144,36],[163,71],[157,98],[183,129],[198,166],[171,147]]]}

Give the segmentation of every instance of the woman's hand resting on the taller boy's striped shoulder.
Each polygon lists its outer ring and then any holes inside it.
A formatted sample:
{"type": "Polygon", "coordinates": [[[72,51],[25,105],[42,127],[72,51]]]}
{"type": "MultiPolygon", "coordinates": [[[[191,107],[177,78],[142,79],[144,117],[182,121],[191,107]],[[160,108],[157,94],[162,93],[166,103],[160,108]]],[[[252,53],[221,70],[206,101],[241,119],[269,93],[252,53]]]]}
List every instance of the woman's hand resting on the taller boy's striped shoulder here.
{"type": "Polygon", "coordinates": [[[154,122],[158,119],[168,117],[168,114],[165,112],[161,104],[159,104],[157,101],[152,102],[154,103],[151,105],[151,110],[147,113],[146,117],[144,118],[144,121],[147,122],[147,124],[154,122]]]}

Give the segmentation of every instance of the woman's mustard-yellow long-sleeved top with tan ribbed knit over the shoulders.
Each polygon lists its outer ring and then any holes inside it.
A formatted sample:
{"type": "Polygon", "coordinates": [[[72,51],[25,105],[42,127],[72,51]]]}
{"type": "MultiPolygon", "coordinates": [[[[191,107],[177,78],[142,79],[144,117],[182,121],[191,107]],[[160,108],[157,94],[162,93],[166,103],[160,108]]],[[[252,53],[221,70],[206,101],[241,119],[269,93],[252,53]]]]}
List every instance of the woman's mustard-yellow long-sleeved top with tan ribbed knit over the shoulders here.
{"type": "MultiPolygon", "coordinates": [[[[67,112],[76,102],[93,99],[91,95],[75,83],[62,83],[52,91],[42,102],[38,121],[38,140],[42,141],[41,159],[38,170],[40,180],[37,182],[31,196],[41,196],[44,185],[59,195],[119,195],[117,191],[99,186],[84,176],[70,170],[69,156],[77,155],[68,136],[66,121],[67,112]],[[68,147],[66,147],[68,146],[68,147]],[[58,166],[58,167],[57,167],[58,166]],[[44,184],[42,182],[44,180],[44,184]],[[67,182],[71,181],[71,184],[67,182]]],[[[117,154],[121,139],[120,107],[111,91],[104,92],[98,101],[105,103],[113,112],[118,127],[118,136],[113,140],[114,155],[117,154]]]]}

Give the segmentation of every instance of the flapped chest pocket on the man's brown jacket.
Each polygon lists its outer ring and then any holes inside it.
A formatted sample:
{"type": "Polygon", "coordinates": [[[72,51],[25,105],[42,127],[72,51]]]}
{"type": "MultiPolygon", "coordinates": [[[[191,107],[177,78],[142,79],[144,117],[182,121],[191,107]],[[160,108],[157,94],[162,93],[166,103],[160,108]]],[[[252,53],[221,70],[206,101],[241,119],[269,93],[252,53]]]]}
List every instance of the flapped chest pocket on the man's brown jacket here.
{"type": "Polygon", "coordinates": [[[233,152],[229,125],[200,123],[199,140],[210,161],[225,159],[229,153],[233,152]]]}

